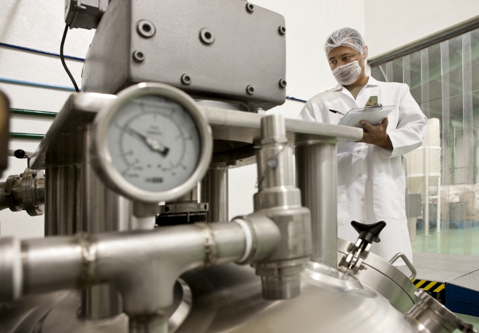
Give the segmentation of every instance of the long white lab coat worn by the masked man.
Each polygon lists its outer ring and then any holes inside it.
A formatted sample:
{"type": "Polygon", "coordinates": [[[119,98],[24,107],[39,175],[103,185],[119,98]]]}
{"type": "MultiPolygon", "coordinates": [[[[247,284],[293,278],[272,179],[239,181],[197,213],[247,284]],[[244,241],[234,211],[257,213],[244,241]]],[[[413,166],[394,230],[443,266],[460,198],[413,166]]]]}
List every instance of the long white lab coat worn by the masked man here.
{"type": "MultiPolygon", "coordinates": [[[[413,261],[405,209],[405,177],[401,156],[422,145],[427,118],[403,83],[384,83],[369,77],[354,100],[351,93],[338,84],[307,101],[298,119],[337,124],[342,113],[364,107],[370,96],[378,103],[396,105],[389,115],[387,133],[393,150],[366,143],[338,146],[337,154],[337,234],[354,242],[358,233],[351,221],[375,223],[385,221],[381,242],[373,243],[371,251],[389,260],[398,252],[413,261]]],[[[396,266],[404,265],[399,259],[396,266]]]]}

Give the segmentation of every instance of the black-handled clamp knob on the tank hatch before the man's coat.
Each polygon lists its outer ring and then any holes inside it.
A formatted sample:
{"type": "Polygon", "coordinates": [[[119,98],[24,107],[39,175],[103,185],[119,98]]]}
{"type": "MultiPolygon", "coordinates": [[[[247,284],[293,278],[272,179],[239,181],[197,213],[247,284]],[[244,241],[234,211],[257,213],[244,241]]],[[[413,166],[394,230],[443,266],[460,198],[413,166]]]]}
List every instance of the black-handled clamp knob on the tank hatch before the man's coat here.
{"type": "Polygon", "coordinates": [[[366,269],[363,261],[367,258],[372,243],[381,241],[379,233],[386,226],[386,222],[363,224],[351,221],[351,226],[359,233],[359,236],[356,242],[351,244],[348,254],[345,254],[339,262],[338,268],[356,274],[360,269],[366,269]]]}

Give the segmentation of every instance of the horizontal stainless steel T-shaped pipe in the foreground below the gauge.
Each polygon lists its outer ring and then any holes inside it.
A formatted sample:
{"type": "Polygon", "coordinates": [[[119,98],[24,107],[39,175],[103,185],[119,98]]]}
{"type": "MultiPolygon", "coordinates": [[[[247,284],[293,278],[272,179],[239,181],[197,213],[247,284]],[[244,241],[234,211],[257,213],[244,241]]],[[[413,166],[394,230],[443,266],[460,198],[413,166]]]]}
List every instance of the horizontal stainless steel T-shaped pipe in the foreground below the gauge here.
{"type": "Polygon", "coordinates": [[[130,332],[165,332],[176,279],[185,271],[269,257],[281,238],[265,216],[135,231],[23,240],[0,239],[0,301],[109,282],[123,297],[130,332]],[[247,234],[256,240],[247,246],[247,234]],[[138,256],[141,253],[141,256],[138,256]]]}

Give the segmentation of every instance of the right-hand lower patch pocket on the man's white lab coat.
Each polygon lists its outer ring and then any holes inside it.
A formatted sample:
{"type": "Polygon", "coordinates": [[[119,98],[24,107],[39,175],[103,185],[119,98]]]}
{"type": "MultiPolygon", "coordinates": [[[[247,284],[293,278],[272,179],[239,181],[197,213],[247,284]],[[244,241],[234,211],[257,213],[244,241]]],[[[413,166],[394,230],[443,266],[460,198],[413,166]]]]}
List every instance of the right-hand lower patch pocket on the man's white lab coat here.
{"type": "Polygon", "coordinates": [[[379,218],[399,218],[399,201],[396,183],[386,177],[372,179],[374,214],[379,218]]]}

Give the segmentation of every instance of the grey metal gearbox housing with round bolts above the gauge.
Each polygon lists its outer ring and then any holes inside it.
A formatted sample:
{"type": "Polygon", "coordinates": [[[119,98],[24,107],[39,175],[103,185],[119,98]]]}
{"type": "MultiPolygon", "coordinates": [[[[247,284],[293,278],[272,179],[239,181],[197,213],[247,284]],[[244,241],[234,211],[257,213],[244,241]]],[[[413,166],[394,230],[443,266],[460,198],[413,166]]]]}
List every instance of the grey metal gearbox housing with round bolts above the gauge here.
{"type": "Polygon", "coordinates": [[[140,82],[196,98],[283,104],[284,17],[244,0],[116,0],[98,24],[82,90],[114,94],[140,82]]]}

